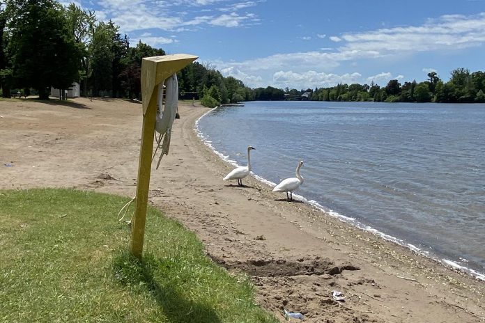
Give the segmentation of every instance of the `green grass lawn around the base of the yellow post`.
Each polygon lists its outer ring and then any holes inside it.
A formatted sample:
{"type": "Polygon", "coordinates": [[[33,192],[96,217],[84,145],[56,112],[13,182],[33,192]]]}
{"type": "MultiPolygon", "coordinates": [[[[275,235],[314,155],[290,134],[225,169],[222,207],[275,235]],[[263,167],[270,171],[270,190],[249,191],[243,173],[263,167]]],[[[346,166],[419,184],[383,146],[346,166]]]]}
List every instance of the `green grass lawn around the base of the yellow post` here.
{"type": "Polygon", "coordinates": [[[277,322],[245,276],[148,208],[144,260],[116,219],[128,201],[70,189],[0,191],[0,322],[277,322]]]}

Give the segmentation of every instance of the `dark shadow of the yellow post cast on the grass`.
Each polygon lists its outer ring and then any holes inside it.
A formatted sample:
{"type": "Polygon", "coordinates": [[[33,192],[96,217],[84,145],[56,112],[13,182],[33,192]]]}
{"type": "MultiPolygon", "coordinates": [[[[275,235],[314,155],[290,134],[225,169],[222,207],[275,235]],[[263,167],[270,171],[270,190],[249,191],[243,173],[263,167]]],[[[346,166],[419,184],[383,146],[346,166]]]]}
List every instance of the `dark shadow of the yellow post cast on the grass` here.
{"type": "Polygon", "coordinates": [[[153,268],[158,265],[161,265],[160,260],[152,255],[139,260],[125,251],[115,257],[113,267],[115,278],[123,285],[146,285],[169,322],[221,322],[213,308],[185,299],[173,287],[160,284],[153,276],[153,268]]]}

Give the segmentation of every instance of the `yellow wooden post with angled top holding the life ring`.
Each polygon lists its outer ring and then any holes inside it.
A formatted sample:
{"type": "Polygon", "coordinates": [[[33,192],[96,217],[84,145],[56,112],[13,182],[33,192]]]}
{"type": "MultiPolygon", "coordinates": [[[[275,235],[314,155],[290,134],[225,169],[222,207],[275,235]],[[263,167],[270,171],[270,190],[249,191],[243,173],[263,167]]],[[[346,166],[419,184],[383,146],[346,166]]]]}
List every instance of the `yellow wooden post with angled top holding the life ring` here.
{"type": "Polygon", "coordinates": [[[174,54],[143,58],[141,63],[141,93],[143,95],[143,127],[141,129],[140,159],[138,165],[137,194],[132,220],[132,254],[141,259],[145,237],[146,206],[150,189],[151,157],[155,116],[157,113],[158,85],[195,61],[198,57],[174,54]]]}

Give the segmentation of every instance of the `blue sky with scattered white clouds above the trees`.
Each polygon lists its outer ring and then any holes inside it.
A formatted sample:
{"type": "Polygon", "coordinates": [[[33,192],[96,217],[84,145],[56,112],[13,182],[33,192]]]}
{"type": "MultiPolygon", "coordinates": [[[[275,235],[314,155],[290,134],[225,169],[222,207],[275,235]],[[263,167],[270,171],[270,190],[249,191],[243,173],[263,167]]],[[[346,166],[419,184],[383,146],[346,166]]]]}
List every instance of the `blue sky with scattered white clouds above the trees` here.
{"type": "Polygon", "coordinates": [[[112,19],[133,46],[197,55],[252,88],[385,86],[485,70],[485,0],[74,2],[112,19]]]}

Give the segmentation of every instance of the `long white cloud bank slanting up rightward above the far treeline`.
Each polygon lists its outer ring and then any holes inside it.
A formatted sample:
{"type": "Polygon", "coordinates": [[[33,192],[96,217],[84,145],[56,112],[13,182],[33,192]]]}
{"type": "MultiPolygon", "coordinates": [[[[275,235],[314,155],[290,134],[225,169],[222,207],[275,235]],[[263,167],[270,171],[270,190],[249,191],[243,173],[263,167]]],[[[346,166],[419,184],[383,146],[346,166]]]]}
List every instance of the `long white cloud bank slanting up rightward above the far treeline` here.
{"type": "MultiPolygon", "coordinates": [[[[334,75],[330,71],[344,64],[347,69],[350,68],[352,63],[349,62],[356,62],[361,66],[360,62],[363,59],[373,60],[390,56],[395,60],[417,52],[449,52],[484,45],[485,13],[470,16],[445,15],[438,19],[429,19],[422,26],[344,33],[340,37],[331,36],[329,39],[338,42],[339,46],[323,47],[320,52],[273,54],[241,62],[217,62],[217,65],[224,69],[233,68],[240,71],[240,79],[252,87],[279,86],[286,79],[303,83],[305,77],[311,77],[309,83],[312,84],[318,79],[325,82],[332,79],[325,78],[325,75],[334,75]],[[258,76],[261,76],[261,82],[255,81],[258,76]]],[[[340,76],[342,75],[355,74],[340,76]]],[[[374,80],[376,83],[387,84],[390,79],[403,79],[403,75],[382,72],[361,81],[367,81],[369,84],[374,80]]],[[[306,86],[313,87],[311,84],[302,87],[306,86]]],[[[316,86],[323,86],[323,83],[316,86]]]]}

